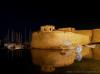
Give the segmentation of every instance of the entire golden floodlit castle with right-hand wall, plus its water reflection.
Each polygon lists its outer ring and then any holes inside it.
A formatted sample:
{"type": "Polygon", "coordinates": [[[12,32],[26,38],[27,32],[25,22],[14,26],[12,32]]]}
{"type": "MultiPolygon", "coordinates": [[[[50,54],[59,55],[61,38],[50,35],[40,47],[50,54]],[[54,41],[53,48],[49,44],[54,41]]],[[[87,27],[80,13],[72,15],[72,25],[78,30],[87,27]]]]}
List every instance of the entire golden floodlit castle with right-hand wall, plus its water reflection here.
{"type": "MultiPolygon", "coordinates": [[[[73,46],[87,45],[100,42],[100,29],[75,30],[75,28],[58,28],[53,25],[40,27],[40,31],[32,33],[31,53],[32,61],[41,66],[43,71],[54,71],[55,67],[70,65],[75,60],[75,50],[71,50],[70,55],[60,54],[67,52],[64,41],[70,40],[73,46]],[[64,49],[65,48],[65,49],[64,49]]],[[[84,58],[99,60],[100,52],[98,48],[91,49],[83,47],[81,52],[84,58]]]]}

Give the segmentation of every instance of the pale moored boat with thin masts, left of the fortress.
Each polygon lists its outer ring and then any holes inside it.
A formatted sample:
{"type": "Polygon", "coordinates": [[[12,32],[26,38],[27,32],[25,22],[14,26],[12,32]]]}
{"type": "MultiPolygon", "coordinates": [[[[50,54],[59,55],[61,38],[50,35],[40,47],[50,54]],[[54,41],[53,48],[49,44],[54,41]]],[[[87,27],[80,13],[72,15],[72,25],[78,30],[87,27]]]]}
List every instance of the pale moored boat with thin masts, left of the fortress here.
{"type": "Polygon", "coordinates": [[[22,45],[22,36],[19,32],[15,32],[16,34],[16,39],[14,40],[14,32],[12,31],[12,36],[11,36],[11,41],[9,41],[9,31],[8,31],[8,40],[7,42],[4,43],[4,47],[9,49],[9,50],[16,50],[16,49],[23,49],[24,45],[22,45]]]}

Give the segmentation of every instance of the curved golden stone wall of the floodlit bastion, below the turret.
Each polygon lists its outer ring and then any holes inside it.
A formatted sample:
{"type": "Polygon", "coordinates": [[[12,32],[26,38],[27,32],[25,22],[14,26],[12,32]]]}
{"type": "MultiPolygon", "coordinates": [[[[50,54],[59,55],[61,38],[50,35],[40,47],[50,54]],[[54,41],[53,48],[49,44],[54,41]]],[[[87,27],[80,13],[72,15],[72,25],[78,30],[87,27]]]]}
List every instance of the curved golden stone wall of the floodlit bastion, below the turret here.
{"type": "Polygon", "coordinates": [[[34,32],[32,34],[33,48],[56,48],[65,45],[65,41],[70,40],[73,45],[85,45],[90,43],[89,37],[72,32],[34,32]]]}

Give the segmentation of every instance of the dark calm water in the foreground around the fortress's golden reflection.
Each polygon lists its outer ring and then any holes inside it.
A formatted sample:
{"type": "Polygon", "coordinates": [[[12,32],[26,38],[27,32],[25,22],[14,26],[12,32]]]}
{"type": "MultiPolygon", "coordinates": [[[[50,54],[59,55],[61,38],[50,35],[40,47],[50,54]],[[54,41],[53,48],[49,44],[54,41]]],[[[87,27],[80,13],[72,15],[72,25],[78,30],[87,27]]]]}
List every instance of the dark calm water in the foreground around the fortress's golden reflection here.
{"type": "Polygon", "coordinates": [[[31,54],[27,49],[16,51],[12,55],[7,49],[0,49],[0,74],[4,73],[21,73],[21,74],[100,74],[100,61],[94,59],[82,59],[75,61],[72,65],[56,68],[54,72],[41,72],[40,67],[32,64],[31,54]]]}

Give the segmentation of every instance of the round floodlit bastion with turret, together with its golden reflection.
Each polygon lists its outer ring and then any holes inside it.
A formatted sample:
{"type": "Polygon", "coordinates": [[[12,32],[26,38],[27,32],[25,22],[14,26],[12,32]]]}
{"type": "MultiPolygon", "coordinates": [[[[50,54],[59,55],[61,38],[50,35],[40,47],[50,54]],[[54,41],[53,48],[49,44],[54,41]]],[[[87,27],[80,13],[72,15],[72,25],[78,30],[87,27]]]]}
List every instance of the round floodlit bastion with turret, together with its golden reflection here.
{"type": "Polygon", "coordinates": [[[69,30],[70,28],[55,29],[55,26],[45,25],[40,27],[40,31],[32,33],[32,62],[40,65],[42,71],[51,72],[56,67],[68,66],[74,62],[74,49],[68,55],[61,54],[62,51],[69,52],[66,41],[71,41],[73,46],[90,42],[88,36],[74,33],[74,28],[69,30]]]}

